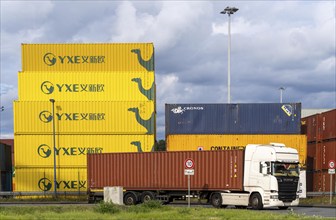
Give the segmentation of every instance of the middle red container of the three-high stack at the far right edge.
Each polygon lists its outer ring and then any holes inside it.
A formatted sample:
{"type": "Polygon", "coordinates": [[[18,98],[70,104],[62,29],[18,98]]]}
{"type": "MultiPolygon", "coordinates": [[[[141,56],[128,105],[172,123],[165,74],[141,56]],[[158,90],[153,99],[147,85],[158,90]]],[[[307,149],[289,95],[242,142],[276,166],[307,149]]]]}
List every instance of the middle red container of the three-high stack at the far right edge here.
{"type": "Polygon", "coordinates": [[[329,161],[336,161],[336,140],[317,143],[316,170],[327,170],[329,161]]]}

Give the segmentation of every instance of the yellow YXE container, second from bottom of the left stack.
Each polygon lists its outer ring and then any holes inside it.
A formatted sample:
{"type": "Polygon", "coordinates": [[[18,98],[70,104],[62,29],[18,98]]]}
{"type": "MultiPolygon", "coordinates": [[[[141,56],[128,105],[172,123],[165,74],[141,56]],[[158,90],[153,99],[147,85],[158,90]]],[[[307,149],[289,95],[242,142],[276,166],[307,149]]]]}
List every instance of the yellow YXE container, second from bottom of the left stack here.
{"type": "MultiPolygon", "coordinates": [[[[154,135],[56,135],[56,164],[86,166],[88,153],[150,152],[154,135]]],[[[15,166],[53,167],[52,135],[15,135],[15,166]]]]}

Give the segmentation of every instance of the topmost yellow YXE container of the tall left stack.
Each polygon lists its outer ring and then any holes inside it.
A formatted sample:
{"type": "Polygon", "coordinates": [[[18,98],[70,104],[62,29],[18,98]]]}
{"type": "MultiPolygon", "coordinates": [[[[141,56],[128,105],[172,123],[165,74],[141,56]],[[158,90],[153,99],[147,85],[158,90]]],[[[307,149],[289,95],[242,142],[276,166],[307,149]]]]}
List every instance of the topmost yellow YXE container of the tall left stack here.
{"type": "Polygon", "coordinates": [[[152,43],[22,44],[22,71],[154,71],[152,43]]]}

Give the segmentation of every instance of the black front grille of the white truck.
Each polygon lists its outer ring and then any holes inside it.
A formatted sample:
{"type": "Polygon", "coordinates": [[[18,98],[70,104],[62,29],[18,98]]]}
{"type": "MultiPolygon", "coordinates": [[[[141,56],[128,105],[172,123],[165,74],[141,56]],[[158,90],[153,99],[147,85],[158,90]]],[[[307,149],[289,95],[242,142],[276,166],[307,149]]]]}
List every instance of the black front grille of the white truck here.
{"type": "Polygon", "coordinates": [[[277,177],[279,186],[279,200],[292,202],[296,199],[296,191],[299,182],[298,177],[277,177]]]}

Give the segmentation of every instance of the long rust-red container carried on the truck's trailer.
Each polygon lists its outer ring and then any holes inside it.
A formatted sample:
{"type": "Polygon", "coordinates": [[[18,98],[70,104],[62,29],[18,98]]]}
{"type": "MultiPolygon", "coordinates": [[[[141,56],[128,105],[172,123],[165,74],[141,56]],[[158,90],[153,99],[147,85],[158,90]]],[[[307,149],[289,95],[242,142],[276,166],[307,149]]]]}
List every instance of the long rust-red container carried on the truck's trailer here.
{"type": "Polygon", "coordinates": [[[244,151],[177,151],[88,154],[90,189],[187,190],[185,161],[194,161],[191,190],[242,190],[244,151]]]}

